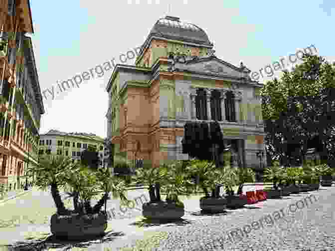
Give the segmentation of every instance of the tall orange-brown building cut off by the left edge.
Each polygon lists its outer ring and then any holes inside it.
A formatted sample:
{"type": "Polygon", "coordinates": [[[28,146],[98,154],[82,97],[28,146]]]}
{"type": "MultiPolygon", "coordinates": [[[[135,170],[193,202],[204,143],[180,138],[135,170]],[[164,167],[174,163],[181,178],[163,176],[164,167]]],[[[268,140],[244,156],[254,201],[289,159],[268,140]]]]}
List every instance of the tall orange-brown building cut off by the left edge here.
{"type": "Polygon", "coordinates": [[[25,168],[38,160],[44,107],[32,33],[29,0],[0,1],[0,183],[9,190],[24,186],[25,168]]]}

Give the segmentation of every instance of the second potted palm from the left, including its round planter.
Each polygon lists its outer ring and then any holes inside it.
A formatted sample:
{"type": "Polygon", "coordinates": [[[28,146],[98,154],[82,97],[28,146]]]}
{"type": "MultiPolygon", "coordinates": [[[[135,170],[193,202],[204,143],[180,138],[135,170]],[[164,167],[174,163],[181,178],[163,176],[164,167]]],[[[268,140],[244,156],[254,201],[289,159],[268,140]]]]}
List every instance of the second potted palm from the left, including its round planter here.
{"type": "Polygon", "coordinates": [[[178,195],[185,191],[181,189],[185,185],[185,174],[175,165],[161,164],[152,168],[150,163],[136,170],[134,180],[148,185],[148,203],[142,206],[143,216],[151,220],[178,220],[184,216],[184,205],[179,201],[178,195]],[[161,189],[163,189],[161,191],[161,189]],[[166,201],[162,200],[161,193],[166,192],[166,201]]]}

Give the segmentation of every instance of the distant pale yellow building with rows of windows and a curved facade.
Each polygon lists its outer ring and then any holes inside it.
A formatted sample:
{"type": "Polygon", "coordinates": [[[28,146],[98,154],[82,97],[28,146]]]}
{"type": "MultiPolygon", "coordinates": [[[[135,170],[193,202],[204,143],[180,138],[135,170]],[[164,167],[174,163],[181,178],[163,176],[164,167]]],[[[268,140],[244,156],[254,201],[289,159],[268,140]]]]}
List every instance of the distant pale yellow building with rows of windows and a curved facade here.
{"type": "Polygon", "coordinates": [[[38,155],[64,155],[71,157],[72,161],[76,162],[80,160],[81,152],[88,147],[96,149],[99,153],[100,167],[104,167],[104,139],[93,133],[66,133],[58,130],[50,130],[40,135],[38,155]]]}

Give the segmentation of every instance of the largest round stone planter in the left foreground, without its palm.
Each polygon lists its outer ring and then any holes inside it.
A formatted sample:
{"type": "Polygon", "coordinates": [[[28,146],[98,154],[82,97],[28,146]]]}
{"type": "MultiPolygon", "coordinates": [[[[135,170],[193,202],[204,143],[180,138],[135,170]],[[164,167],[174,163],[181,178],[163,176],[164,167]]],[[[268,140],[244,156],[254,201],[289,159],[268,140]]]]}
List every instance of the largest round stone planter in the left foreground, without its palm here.
{"type": "Polygon", "coordinates": [[[51,216],[51,233],[67,240],[82,240],[105,234],[107,214],[99,212],[93,215],[58,215],[51,216]]]}

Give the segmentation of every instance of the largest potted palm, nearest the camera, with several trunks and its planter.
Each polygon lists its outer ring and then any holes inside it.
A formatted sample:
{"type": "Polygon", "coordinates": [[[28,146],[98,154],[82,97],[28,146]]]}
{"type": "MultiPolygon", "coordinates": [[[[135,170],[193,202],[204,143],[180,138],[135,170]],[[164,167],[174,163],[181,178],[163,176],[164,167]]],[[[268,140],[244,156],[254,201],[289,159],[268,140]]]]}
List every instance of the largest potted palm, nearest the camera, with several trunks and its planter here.
{"type": "Polygon", "coordinates": [[[51,233],[68,240],[86,239],[103,235],[107,228],[106,207],[108,193],[114,198],[125,197],[125,184],[116,177],[108,176],[108,170],[93,171],[72,159],[59,155],[47,155],[33,164],[29,171],[35,177],[34,185],[45,190],[51,187],[56,213],[51,217],[51,233]],[[59,195],[59,188],[73,197],[74,210],[66,209],[59,195]],[[102,198],[92,207],[91,200],[103,193],[102,198]]]}

